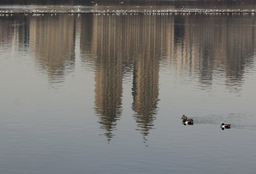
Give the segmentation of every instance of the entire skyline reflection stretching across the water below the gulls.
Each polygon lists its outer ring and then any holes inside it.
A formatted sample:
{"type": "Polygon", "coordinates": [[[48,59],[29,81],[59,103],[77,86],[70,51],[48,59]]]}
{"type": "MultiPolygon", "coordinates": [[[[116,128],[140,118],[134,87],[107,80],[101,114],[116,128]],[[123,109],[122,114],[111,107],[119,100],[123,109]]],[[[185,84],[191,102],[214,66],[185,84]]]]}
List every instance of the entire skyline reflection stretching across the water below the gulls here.
{"type": "Polygon", "coordinates": [[[49,82],[63,82],[75,71],[79,47],[81,61],[95,71],[95,112],[108,141],[122,115],[127,72],[132,72],[134,118],[146,137],[156,119],[161,62],[177,73],[195,73],[204,87],[220,71],[235,92],[253,65],[252,15],[13,15],[0,20],[0,44],[24,43],[19,47],[35,53],[36,66],[49,82]]]}

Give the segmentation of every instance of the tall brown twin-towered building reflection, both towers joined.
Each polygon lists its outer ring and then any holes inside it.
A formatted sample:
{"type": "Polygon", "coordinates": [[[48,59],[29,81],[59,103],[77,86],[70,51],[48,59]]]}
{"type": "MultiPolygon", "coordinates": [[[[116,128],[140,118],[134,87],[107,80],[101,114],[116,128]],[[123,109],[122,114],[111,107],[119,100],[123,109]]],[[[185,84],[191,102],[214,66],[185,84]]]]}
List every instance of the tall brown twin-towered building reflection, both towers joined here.
{"type": "Polygon", "coordinates": [[[170,50],[166,50],[173,44],[172,18],[167,15],[161,20],[149,15],[88,17],[81,17],[84,44],[81,52],[91,56],[85,62],[95,62],[95,111],[99,123],[111,140],[122,113],[122,79],[133,71],[132,109],[138,129],[147,136],[157,113],[159,61],[170,55],[170,50]]]}

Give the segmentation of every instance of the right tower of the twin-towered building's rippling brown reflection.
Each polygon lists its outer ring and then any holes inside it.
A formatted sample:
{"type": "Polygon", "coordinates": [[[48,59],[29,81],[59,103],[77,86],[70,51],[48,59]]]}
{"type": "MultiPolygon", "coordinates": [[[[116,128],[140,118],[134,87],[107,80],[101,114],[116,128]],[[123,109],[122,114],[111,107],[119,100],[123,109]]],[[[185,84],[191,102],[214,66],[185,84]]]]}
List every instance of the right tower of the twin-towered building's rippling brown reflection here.
{"type": "Polygon", "coordinates": [[[159,95],[159,63],[168,54],[172,45],[173,20],[168,16],[157,17],[144,15],[132,20],[127,29],[131,36],[127,43],[134,45],[127,54],[131,56],[133,64],[132,80],[132,109],[135,114],[138,130],[146,140],[150,129],[154,127],[157,114],[159,95]],[[134,27],[136,26],[136,27],[134,27]]]}

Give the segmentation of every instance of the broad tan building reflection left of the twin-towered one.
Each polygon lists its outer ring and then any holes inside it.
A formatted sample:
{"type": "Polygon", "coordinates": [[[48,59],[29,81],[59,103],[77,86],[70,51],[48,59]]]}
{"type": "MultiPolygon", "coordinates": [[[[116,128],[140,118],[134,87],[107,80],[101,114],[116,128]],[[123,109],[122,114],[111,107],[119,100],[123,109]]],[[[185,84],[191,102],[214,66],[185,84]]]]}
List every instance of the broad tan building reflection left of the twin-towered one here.
{"type": "Polygon", "coordinates": [[[75,62],[76,18],[72,15],[31,17],[29,45],[35,53],[36,66],[46,72],[49,82],[62,82],[73,71],[75,62]]]}

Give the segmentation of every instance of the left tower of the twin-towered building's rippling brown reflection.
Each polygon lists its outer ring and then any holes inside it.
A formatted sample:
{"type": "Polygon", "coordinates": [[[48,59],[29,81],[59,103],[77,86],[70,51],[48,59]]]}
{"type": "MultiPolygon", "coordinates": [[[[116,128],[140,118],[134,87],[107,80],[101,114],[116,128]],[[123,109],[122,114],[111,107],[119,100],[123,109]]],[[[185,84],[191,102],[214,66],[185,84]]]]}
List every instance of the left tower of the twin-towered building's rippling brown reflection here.
{"type": "Polygon", "coordinates": [[[81,51],[89,50],[88,59],[94,62],[95,112],[110,141],[122,114],[122,27],[118,27],[120,21],[114,17],[88,17],[81,20],[81,51]]]}

